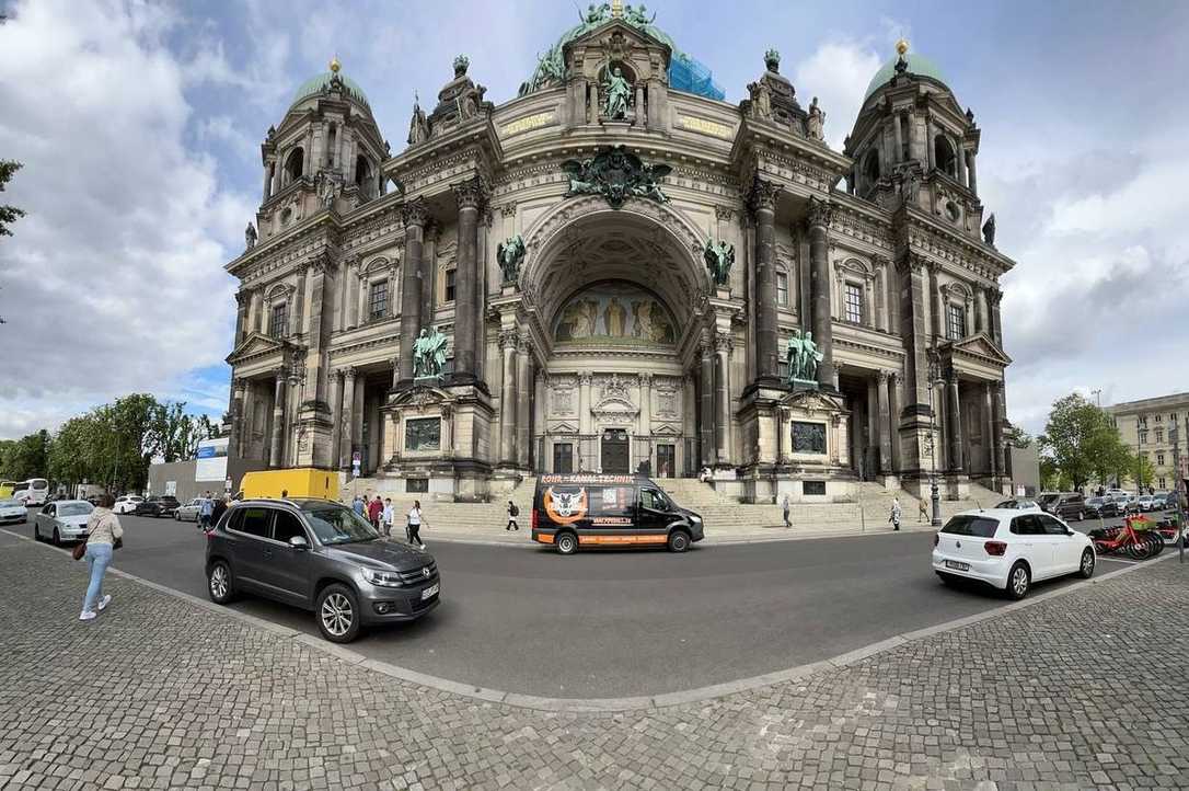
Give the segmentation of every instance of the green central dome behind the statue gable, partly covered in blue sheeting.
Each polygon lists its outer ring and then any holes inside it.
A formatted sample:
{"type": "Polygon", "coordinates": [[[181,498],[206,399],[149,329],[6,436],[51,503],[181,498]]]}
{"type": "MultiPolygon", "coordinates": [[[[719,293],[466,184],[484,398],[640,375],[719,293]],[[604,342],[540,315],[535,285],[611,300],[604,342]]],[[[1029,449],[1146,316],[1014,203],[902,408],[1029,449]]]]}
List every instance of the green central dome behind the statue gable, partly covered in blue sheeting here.
{"type": "MultiPolygon", "coordinates": [[[[616,4],[616,6],[618,5],[616,4]]],[[[668,68],[669,88],[707,99],[717,99],[718,101],[726,98],[723,89],[715,82],[715,75],[710,69],[697,58],[682,52],[668,33],[654,25],[656,14],[653,14],[650,18],[647,17],[643,5],[637,8],[630,5],[623,6],[622,10],[618,7],[609,10],[606,6],[590,6],[590,10],[584,14],[583,21],[564,32],[556,43],[546,50],[545,55],[540,56],[533,76],[521,84],[520,95],[523,96],[524,94],[539,90],[551,82],[561,81],[566,73],[566,63],[562,57],[565,45],[584,33],[605,25],[612,19],[619,19],[672,50],[673,56],[669,59],[668,68]]]]}

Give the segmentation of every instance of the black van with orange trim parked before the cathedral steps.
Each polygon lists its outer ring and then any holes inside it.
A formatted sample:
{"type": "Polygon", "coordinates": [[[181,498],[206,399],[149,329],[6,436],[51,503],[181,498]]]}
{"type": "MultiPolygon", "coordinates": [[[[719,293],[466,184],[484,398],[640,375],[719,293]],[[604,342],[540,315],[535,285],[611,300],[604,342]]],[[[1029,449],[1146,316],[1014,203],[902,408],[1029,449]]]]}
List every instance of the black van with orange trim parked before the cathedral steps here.
{"type": "Polygon", "coordinates": [[[667,546],[703,539],[702,517],[644,476],[542,475],[533,495],[533,540],[561,554],[579,546],[667,546]]]}

